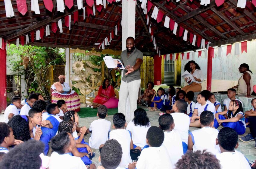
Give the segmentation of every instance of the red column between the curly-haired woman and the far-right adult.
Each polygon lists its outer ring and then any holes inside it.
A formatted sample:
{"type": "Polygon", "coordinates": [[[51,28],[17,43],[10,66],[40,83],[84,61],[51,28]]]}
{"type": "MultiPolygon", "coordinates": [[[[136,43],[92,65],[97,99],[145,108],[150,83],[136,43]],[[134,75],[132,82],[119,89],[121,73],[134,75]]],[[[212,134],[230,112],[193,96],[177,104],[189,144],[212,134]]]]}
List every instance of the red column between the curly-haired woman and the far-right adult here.
{"type": "Polygon", "coordinates": [[[212,47],[209,47],[208,60],[207,60],[207,87],[206,87],[206,90],[208,91],[211,91],[212,58],[214,58],[214,49],[212,47]]]}

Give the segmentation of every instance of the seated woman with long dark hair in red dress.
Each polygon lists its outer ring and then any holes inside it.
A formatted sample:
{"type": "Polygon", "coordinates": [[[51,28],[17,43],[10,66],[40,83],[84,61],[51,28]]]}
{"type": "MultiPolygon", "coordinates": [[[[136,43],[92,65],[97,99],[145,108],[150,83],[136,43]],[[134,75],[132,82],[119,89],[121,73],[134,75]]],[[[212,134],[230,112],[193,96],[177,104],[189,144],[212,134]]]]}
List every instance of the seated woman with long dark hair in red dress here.
{"type": "Polygon", "coordinates": [[[115,97],[114,88],[109,83],[109,79],[104,79],[102,86],[100,86],[98,95],[93,100],[92,104],[87,107],[97,108],[105,104],[111,97],[115,97]]]}

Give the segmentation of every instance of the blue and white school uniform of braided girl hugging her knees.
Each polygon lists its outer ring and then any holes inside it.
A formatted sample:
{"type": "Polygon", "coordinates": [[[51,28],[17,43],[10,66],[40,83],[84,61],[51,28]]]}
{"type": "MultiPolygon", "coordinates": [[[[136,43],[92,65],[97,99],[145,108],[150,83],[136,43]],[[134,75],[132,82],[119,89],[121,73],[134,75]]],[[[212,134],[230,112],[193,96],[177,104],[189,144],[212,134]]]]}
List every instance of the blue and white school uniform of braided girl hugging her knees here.
{"type": "MultiPolygon", "coordinates": [[[[228,114],[228,112],[227,112],[228,114]]],[[[221,125],[223,127],[229,127],[232,128],[234,130],[236,130],[237,134],[244,134],[245,133],[245,129],[246,129],[246,124],[245,124],[245,116],[243,112],[238,112],[235,116],[233,116],[233,112],[231,112],[231,117],[236,117],[238,114],[242,114],[243,117],[237,121],[237,122],[223,122],[221,123],[221,125]]],[[[219,119],[220,120],[225,120],[225,116],[219,114],[219,119]]],[[[217,122],[216,119],[214,119],[214,127],[215,129],[217,129],[219,127],[219,123],[217,122]]]]}

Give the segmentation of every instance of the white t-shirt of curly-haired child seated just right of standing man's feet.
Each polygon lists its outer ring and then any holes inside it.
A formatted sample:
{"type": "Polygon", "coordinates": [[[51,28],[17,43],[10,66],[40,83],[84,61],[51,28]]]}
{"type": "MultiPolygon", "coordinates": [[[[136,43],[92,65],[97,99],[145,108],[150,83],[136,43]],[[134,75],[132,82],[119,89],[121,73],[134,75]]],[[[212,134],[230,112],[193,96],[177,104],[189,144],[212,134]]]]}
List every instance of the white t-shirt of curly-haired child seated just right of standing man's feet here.
{"type": "Polygon", "coordinates": [[[140,126],[140,125],[135,126],[133,121],[130,121],[128,123],[126,130],[129,130],[130,132],[132,132],[133,144],[141,148],[147,145],[146,136],[150,126],[151,126],[150,123],[149,123],[149,126],[140,126]]]}

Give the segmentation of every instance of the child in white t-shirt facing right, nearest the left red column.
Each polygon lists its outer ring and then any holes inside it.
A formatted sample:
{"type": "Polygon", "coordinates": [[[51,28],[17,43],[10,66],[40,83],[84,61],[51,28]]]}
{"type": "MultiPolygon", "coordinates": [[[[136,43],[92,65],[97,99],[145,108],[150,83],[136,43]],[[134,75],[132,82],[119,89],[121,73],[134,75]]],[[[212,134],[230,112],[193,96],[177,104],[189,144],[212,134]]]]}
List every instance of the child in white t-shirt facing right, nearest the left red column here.
{"type": "Polygon", "coordinates": [[[19,114],[19,108],[21,107],[20,97],[13,97],[11,99],[11,104],[5,109],[5,123],[15,115],[19,114]]]}

